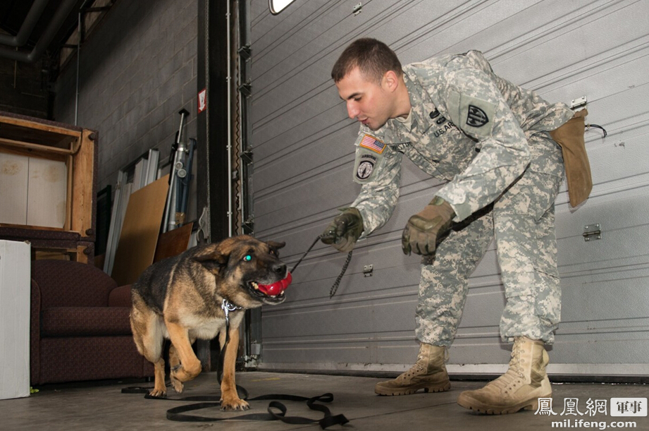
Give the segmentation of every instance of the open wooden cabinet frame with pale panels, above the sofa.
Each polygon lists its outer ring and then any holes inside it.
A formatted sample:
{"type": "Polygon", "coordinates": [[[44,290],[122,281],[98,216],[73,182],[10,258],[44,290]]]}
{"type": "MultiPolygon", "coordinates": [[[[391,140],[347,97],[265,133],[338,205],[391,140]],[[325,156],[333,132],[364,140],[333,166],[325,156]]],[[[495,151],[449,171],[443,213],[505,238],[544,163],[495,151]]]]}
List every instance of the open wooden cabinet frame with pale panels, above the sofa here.
{"type": "Polygon", "coordinates": [[[0,111],[0,239],[92,261],[97,132],[0,111]]]}

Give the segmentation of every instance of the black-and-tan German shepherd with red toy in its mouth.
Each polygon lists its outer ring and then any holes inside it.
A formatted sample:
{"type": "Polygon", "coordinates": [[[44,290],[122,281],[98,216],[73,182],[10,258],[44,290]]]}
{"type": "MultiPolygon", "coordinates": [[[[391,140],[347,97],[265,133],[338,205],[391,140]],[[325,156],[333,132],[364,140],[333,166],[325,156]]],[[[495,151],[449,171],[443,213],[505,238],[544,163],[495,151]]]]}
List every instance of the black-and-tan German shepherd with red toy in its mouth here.
{"type": "Polygon", "coordinates": [[[278,257],[278,249],[284,245],[258,241],[252,236],[235,236],[191,248],[154,263],[142,273],[132,286],[130,324],[137,350],[154,364],[155,384],[151,396],[166,396],[165,338],[171,340],[171,384],[180,393],[183,382],[201,372],[200,360],[192,350],[193,342],[213,339],[218,334],[223,348],[229,326],[229,347],[223,358],[221,408],[249,408],[237,395],[235,384],[239,325],[245,310],[285,300],[284,289],[290,284],[290,273],[278,257]],[[233,305],[228,315],[224,301],[233,305]]]}

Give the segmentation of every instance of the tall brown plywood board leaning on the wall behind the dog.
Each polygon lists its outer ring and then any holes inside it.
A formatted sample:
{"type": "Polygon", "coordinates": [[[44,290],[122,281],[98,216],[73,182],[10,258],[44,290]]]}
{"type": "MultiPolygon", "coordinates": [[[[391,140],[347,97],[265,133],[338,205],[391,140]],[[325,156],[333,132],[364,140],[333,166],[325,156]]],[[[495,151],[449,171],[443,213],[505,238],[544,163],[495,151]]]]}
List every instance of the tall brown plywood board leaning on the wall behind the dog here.
{"type": "Polygon", "coordinates": [[[163,176],[130,195],[111,273],[120,286],[135,282],[153,263],[168,181],[163,176]]]}

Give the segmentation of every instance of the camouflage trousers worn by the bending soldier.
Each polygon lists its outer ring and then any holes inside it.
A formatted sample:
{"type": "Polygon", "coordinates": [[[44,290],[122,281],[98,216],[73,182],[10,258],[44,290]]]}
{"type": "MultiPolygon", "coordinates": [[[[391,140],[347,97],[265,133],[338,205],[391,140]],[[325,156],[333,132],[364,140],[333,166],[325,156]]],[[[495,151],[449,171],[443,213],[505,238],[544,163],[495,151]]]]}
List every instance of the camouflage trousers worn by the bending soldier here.
{"type": "Polygon", "coordinates": [[[455,226],[435,255],[424,257],[416,308],[419,341],[452,344],[469,290],[467,279],[492,238],[505,286],[502,340],[527,336],[554,341],[561,312],[554,202],[561,182],[562,172],[528,168],[493,207],[455,226]]]}

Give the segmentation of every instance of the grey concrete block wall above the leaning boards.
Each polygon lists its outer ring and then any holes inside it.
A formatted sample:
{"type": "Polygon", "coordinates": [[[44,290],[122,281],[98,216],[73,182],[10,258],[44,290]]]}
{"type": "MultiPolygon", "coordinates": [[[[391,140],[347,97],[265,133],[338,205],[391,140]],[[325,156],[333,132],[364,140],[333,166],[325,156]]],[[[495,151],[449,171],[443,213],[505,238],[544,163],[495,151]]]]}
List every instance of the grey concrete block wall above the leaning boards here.
{"type": "MultiPolygon", "coordinates": [[[[99,131],[98,190],[151,148],[167,160],[180,124],[196,137],[197,0],[117,1],[82,44],[78,126],[99,131]]],[[[75,123],[77,59],[56,83],[54,118],[75,123]]]]}

